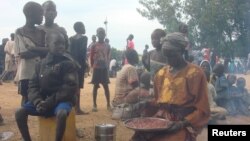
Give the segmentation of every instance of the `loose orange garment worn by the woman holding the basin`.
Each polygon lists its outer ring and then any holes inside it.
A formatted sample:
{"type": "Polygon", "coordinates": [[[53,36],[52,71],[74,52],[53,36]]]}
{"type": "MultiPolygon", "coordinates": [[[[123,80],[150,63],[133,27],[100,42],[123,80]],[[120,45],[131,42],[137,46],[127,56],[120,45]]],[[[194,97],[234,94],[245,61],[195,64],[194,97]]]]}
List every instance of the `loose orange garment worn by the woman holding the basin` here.
{"type": "Polygon", "coordinates": [[[175,75],[169,70],[165,66],[155,75],[154,102],[159,107],[155,116],[172,121],[185,119],[191,127],[156,135],[148,141],[195,140],[210,116],[206,77],[201,68],[191,63],[175,75]]]}

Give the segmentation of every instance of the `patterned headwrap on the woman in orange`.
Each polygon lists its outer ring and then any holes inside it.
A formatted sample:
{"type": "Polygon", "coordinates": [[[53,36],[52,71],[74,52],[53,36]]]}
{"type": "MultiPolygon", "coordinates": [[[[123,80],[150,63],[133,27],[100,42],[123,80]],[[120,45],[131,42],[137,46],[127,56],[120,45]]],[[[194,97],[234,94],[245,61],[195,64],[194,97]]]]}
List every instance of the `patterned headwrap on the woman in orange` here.
{"type": "Polygon", "coordinates": [[[188,45],[188,41],[185,36],[180,32],[174,32],[168,34],[166,37],[161,39],[161,44],[168,42],[171,47],[179,47],[185,49],[188,45]]]}

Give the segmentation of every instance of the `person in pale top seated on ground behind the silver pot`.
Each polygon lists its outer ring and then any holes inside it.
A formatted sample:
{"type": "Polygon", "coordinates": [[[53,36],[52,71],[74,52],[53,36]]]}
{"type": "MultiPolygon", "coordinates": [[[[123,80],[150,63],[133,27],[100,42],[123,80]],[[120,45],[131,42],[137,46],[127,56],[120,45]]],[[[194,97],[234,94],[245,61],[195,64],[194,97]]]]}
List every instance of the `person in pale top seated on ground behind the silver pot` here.
{"type": "Polygon", "coordinates": [[[121,104],[136,104],[143,97],[149,95],[150,84],[148,83],[150,82],[150,74],[142,75],[144,83],[140,87],[138,73],[135,68],[139,60],[137,52],[135,50],[127,50],[125,56],[128,63],[117,73],[115,97],[112,103],[114,108],[121,104]]]}

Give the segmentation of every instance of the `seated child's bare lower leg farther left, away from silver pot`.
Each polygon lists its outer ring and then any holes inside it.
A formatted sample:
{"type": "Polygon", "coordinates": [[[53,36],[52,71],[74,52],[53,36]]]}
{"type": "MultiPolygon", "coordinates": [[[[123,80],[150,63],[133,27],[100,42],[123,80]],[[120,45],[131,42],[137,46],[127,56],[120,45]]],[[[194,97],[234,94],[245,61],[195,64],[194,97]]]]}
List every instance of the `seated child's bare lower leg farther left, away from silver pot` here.
{"type": "Polygon", "coordinates": [[[28,128],[28,113],[24,108],[21,108],[15,113],[18,129],[25,141],[31,141],[28,128]]]}

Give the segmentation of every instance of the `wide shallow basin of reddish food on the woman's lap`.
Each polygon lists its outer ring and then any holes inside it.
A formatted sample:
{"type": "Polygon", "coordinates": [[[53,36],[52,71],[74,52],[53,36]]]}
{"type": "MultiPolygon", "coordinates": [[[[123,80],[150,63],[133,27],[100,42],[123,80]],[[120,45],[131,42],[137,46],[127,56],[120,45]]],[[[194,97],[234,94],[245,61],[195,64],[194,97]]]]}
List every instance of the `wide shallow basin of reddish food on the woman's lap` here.
{"type": "Polygon", "coordinates": [[[162,118],[132,118],[126,120],[124,125],[135,131],[162,131],[170,127],[171,121],[162,118]]]}

